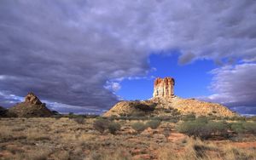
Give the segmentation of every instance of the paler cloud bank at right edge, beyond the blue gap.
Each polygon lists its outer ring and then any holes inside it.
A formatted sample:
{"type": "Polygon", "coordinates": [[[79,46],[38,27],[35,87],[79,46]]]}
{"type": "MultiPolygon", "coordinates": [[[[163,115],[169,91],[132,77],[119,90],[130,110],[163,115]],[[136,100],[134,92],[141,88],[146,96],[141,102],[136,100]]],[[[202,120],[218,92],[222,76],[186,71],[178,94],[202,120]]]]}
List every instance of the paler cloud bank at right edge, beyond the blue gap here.
{"type": "Polygon", "coordinates": [[[202,98],[230,106],[242,113],[256,114],[256,64],[223,66],[211,71],[211,89],[215,93],[202,98]]]}

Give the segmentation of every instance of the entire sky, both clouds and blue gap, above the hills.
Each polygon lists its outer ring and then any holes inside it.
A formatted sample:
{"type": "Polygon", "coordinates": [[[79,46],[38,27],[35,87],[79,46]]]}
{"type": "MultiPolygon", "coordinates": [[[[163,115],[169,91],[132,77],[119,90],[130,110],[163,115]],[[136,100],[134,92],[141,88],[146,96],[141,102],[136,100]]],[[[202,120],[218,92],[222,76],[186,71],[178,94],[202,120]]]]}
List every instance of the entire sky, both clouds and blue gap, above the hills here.
{"type": "Polygon", "coordinates": [[[60,112],[175,94],[256,114],[254,0],[1,0],[0,106],[30,91],[60,112]]]}

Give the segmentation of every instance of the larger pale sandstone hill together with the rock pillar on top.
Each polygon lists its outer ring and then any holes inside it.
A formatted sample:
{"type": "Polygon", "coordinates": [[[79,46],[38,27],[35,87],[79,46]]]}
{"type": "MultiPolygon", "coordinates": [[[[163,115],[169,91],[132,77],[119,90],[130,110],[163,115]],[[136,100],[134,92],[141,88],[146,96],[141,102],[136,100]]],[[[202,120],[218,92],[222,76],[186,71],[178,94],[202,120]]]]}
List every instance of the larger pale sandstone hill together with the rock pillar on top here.
{"type": "Polygon", "coordinates": [[[110,116],[196,116],[234,117],[238,116],[227,107],[195,99],[182,99],[174,95],[172,77],[156,78],[153,98],[149,100],[120,101],[103,114],[110,116]]]}

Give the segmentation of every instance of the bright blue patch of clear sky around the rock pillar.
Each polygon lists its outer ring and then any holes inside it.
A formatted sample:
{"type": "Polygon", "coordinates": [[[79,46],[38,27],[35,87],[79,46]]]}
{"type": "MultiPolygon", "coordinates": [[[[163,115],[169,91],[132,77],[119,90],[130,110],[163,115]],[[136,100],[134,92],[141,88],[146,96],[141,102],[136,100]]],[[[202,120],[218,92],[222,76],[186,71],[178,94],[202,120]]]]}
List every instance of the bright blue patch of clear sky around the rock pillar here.
{"type": "Polygon", "coordinates": [[[151,71],[141,79],[125,79],[116,94],[125,100],[147,100],[152,97],[154,77],[174,77],[175,94],[195,98],[212,94],[208,88],[212,81],[209,72],[216,67],[212,60],[195,60],[187,65],[178,64],[178,53],[151,54],[148,58],[151,71]]]}

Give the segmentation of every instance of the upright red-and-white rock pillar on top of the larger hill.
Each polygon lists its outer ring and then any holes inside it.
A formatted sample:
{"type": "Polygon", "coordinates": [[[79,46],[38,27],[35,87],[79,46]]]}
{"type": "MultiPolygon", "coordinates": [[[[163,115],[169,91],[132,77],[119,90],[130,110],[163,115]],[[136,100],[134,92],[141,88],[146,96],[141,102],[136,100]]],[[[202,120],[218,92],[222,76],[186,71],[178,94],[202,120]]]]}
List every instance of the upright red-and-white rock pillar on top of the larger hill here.
{"type": "Polygon", "coordinates": [[[153,97],[173,97],[174,96],[174,78],[165,77],[160,78],[157,77],[154,80],[154,93],[153,97]]]}

